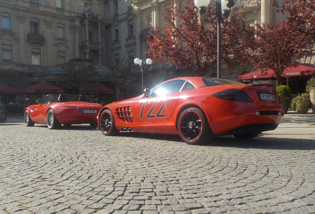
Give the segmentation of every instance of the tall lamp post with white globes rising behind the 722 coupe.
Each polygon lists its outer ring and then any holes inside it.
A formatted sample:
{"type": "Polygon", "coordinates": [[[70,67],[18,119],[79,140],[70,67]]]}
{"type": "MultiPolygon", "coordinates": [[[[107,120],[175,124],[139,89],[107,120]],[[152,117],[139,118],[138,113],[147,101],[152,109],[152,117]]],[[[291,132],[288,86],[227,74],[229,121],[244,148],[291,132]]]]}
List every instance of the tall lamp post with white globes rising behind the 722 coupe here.
{"type": "Polygon", "coordinates": [[[221,78],[221,21],[226,20],[230,15],[231,7],[234,6],[234,0],[215,0],[215,16],[211,19],[205,17],[206,7],[210,0],[195,0],[195,5],[206,22],[213,22],[217,18],[217,78],[221,78]]]}

